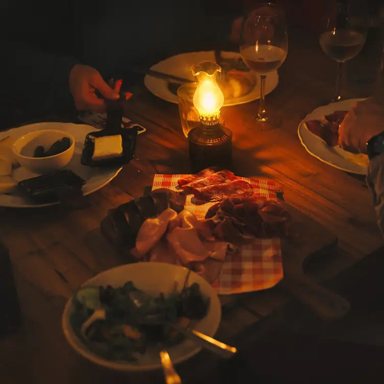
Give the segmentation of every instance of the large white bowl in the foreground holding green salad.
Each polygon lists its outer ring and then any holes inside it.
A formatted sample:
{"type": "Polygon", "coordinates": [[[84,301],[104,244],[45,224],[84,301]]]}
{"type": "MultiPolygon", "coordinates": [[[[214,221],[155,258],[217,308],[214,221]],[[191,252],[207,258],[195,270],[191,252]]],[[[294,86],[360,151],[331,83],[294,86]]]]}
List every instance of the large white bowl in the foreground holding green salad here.
{"type": "MultiPolygon", "coordinates": [[[[175,266],[162,262],[137,262],[112,268],[89,279],[82,286],[87,285],[112,285],[118,287],[127,281],[133,281],[135,286],[148,294],[158,296],[161,292],[165,295],[175,289],[175,281],[181,287],[184,284],[188,270],[184,267],[175,266]]],[[[204,296],[210,298],[210,306],[207,316],[199,321],[195,329],[213,337],[219,328],[221,319],[221,306],[217,293],[209,283],[201,276],[191,272],[188,283],[197,282],[204,296]]],[[[148,371],[161,368],[159,349],[155,346],[148,348],[147,352],[139,355],[137,362],[115,362],[108,361],[91,352],[87,346],[78,338],[69,321],[74,312],[73,298],[70,298],[65,305],[62,317],[62,327],[65,338],[71,347],[91,362],[119,371],[148,371]]],[[[201,350],[193,341],[185,339],[181,343],[167,348],[174,364],[185,361],[201,350]]]]}

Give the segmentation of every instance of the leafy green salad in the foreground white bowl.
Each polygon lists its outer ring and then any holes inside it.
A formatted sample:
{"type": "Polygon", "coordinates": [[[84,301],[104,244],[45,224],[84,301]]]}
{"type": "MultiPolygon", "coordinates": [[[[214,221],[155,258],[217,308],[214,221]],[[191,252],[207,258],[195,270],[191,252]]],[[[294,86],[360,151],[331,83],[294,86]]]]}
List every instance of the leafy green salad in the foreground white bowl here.
{"type": "Polygon", "coordinates": [[[172,326],[199,321],[207,315],[209,298],[197,283],[165,297],[138,290],[132,281],[121,287],[108,285],[81,288],[73,300],[70,322],[79,338],[99,356],[112,361],[134,362],[154,345],[169,347],[182,341],[172,326]],[[82,325],[94,311],[105,311],[105,319],[82,325]]]}

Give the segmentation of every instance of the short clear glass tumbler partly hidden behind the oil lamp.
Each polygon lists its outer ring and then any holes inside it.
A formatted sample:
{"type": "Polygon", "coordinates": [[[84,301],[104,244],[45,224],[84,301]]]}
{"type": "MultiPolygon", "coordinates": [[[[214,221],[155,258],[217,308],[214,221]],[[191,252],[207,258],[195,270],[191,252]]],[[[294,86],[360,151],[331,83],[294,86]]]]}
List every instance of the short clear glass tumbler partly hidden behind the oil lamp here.
{"type": "Polygon", "coordinates": [[[188,137],[188,132],[200,125],[199,112],[194,106],[194,94],[198,83],[183,84],[177,90],[179,100],[179,112],[181,128],[185,137],[188,137]]]}

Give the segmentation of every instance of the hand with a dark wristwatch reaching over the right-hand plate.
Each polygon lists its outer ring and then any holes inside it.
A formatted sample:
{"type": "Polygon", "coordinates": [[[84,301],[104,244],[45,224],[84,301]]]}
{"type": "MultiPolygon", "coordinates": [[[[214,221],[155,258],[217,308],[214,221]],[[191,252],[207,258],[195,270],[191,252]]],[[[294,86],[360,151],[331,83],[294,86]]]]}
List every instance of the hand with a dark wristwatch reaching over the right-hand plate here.
{"type": "Polygon", "coordinates": [[[352,153],[367,153],[367,141],[384,131],[384,104],[375,98],[356,103],[339,127],[339,144],[352,153]]]}

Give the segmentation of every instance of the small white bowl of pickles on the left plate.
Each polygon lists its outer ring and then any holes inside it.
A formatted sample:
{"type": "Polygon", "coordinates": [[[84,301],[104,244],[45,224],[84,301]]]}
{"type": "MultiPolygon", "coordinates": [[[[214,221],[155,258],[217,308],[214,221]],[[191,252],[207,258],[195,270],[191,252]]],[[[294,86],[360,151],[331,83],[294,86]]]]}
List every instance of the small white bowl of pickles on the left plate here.
{"type": "Polygon", "coordinates": [[[22,167],[44,175],[61,170],[69,163],[75,151],[75,138],[68,132],[58,129],[43,129],[18,137],[13,143],[12,150],[22,167]],[[68,137],[70,140],[70,147],[66,151],[54,156],[33,157],[36,147],[42,146],[47,151],[55,141],[63,137],[68,137]]]}

